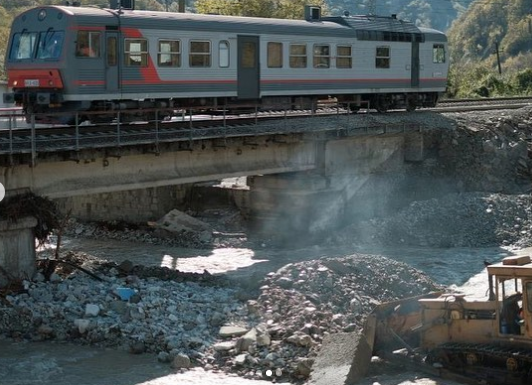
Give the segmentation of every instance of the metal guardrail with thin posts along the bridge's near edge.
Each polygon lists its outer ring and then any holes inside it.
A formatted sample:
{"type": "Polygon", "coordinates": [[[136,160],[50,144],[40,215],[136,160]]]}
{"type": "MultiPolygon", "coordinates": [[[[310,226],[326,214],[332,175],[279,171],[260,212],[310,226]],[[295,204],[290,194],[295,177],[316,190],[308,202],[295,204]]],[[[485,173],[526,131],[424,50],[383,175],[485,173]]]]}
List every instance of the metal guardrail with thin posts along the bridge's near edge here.
{"type": "Polygon", "coordinates": [[[237,117],[225,112],[209,115],[188,110],[177,111],[171,118],[159,119],[167,110],[153,110],[154,120],[129,124],[122,123],[126,113],[118,111],[112,112],[113,118],[109,119],[112,124],[87,124],[80,122],[81,114],[76,114],[74,125],[50,126],[37,123],[39,115],[31,115],[28,123],[20,109],[4,109],[0,110],[0,122],[5,126],[0,125],[0,155],[31,154],[33,163],[37,155],[44,152],[146,144],[154,145],[157,152],[161,143],[168,142],[309,132],[332,136],[375,135],[422,129],[420,125],[404,123],[376,125],[366,122],[358,127],[351,124],[355,115],[349,112],[349,108],[327,107],[323,111],[311,109],[301,116],[291,109],[267,114],[255,107],[251,113],[237,117]],[[316,119],[319,119],[319,124],[316,119]]]}

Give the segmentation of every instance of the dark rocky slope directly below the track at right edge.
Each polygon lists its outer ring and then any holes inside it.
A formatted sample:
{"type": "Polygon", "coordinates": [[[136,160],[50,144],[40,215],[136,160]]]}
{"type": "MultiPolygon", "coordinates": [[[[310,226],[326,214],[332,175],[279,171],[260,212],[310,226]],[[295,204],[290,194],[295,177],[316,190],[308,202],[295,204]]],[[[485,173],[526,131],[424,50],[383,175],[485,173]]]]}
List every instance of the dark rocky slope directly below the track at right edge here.
{"type": "Polygon", "coordinates": [[[435,176],[451,176],[459,191],[530,192],[532,108],[449,116],[456,128],[433,133],[435,176]]]}

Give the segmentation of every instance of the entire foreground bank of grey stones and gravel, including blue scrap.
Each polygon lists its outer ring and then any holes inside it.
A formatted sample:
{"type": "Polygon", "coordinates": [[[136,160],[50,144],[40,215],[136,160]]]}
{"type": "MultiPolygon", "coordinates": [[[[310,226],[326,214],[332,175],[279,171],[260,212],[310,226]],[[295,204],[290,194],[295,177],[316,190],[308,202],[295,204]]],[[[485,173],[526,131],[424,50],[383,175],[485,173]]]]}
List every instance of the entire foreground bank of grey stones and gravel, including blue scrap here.
{"type": "Polygon", "coordinates": [[[437,289],[415,269],[374,256],[286,265],[247,302],[207,273],[172,279],[152,267],[165,280],[146,271],[140,278],[123,265],[87,258],[82,266],[101,281],[58,268],[50,281],[24,282],[0,302],[0,333],[153,352],[174,368],[304,379],[327,333],[359,331],[376,304],[437,289]]]}

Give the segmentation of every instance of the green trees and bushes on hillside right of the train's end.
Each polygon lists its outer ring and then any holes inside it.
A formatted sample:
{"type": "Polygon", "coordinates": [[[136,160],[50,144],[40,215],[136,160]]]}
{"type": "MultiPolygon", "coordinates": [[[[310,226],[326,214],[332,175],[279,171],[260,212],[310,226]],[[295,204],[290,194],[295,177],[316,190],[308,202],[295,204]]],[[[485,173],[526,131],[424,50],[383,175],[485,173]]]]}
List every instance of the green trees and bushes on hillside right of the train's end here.
{"type": "Polygon", "coordinates": [[[531,2],[475,1],[447,33],[450,96],[532,95],[531,2]]]}

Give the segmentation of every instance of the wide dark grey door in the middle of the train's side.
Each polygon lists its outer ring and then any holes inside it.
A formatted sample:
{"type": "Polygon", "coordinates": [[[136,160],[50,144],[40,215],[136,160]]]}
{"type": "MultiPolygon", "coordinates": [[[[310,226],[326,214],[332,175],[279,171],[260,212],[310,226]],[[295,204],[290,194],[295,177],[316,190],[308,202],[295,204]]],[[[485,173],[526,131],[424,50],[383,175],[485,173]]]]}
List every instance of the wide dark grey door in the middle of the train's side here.
{"type": "Polygon", "coordinates": [[[237,96],[239,99],[260,97],[259,37],[238,36],[237,96]]]}

